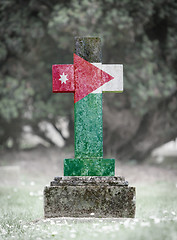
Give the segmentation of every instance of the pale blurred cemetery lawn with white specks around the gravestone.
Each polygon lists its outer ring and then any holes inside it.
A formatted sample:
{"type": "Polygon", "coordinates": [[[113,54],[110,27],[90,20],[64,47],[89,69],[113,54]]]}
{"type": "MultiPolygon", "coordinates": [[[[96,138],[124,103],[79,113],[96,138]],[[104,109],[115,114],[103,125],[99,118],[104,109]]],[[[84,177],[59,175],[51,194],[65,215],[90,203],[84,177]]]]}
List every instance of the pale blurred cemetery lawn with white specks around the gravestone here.
{"type": "Polygon", "coordinates": [[[136,187],[135,219],[44,219],[43,189],[62,174],[65,154],[44,151],[40,160],[36,154],[15,153],[13,161],[10,155],[1,158],[0,239],[177,239],[174,166],[118,164],[117,175],[136,187]]]}

